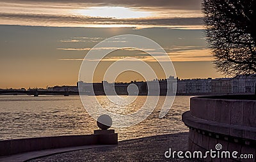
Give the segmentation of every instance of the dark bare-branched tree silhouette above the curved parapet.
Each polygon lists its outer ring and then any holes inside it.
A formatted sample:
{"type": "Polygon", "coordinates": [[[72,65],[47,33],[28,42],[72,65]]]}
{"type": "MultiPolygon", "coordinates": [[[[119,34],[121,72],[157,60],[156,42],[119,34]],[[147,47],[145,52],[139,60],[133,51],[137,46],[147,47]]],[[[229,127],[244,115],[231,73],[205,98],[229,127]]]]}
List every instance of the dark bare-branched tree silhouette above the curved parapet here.
{"type": "Polygon", "coordinates": [[[206,37],[218,71],[234,76],[256,72],[256,1],[204,0],[206,37]]]}

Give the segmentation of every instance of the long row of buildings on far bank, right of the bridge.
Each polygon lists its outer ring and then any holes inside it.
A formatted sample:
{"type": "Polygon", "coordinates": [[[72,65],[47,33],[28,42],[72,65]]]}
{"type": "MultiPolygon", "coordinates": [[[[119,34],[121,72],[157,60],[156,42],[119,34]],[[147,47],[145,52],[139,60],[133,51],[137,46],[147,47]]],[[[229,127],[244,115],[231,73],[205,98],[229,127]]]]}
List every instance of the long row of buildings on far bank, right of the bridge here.
{"type": "MultiPolygon", "coordinates": [[[[182,79],[169,77],[167,79],[154,79],[147,82],[132,81],[129,83],[84,83],[77,82],[80,92],[86,94],[104,95],[104,89],[108,94],[127,95],[127,88],[130,84],[138,87],[139,95],[172,95],[191,94],[252,94],[255,91],[256,75],[238,75],[234,78],[195,78],[182,79]],[[92,91],[93,87],[93,92],[92,91]]],[[[67,86],[66,86],[67,87],[67,86]]],[[[55,87],[56,89],[63,87],[55,87]]]]}

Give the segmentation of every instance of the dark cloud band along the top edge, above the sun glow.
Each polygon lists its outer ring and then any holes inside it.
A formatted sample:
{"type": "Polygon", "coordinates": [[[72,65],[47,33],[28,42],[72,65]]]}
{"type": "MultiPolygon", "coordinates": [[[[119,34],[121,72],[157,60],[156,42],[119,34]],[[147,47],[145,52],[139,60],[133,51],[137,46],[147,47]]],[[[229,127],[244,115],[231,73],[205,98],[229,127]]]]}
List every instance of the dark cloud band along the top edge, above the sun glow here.
{"type": "MultiPolygon", "coordinates": [[[[31,4],[38,6],[67,6],[84,8],[88,6],[125,6],[129,8],[168,8],[175,10],[200,10],[201,0],[1,0],[2,3],[31,4]]],[[[157,9],[156,9],[157,10],[157,9]]]]}

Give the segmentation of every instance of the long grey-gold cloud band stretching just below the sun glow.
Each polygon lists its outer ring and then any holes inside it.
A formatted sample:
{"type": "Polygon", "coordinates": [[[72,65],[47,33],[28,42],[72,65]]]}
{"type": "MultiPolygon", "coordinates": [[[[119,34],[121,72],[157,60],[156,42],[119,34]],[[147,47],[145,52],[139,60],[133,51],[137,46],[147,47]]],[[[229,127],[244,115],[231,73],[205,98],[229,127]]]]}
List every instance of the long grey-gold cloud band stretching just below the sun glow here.
{"type": "MultiPolygon", "coordinates": [[[[128,25],[128,26],[202,26],[201,17],[189,18],[106,18],[85,17],[77,15],[46,15],[46,14],[22,14],[0,13],[0,24],[6,21],[15,21],[17,24],[25,23],[28,26],[88,26],[88,25],[128,25]],[[68,24],[68,25],[67,25],[68,24]]],[[[24,24],[22,24],[24,25],[24,24]]]]}

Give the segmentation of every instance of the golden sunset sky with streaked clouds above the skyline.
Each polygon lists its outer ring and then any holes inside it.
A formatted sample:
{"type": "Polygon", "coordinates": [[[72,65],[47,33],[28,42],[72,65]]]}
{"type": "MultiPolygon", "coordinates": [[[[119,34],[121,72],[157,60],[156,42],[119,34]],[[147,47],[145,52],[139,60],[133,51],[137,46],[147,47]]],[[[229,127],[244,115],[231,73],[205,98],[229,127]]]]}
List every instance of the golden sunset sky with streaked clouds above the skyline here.
{"type": "MultiPolygon", "coordinates": [[[[172,59],[179,78],[223,77],[214,69],[207,48],[200,3],[1,0],[0,88],[75,85],[86,54],[100,41],[120,34],[156,41],[172,59]]],[[[110,47],[115,48],[115,43],[110,47]]],[[[124,57],[141,59],[156,69],[158,78],[164,77],[150,55],[122,49],[104,58],[93,81],[100,82],[109,65],[124,57]]],[[[130,80],[143,80],[143,76],[127,72],[116,78],[118,82],[130,80]]]]}

